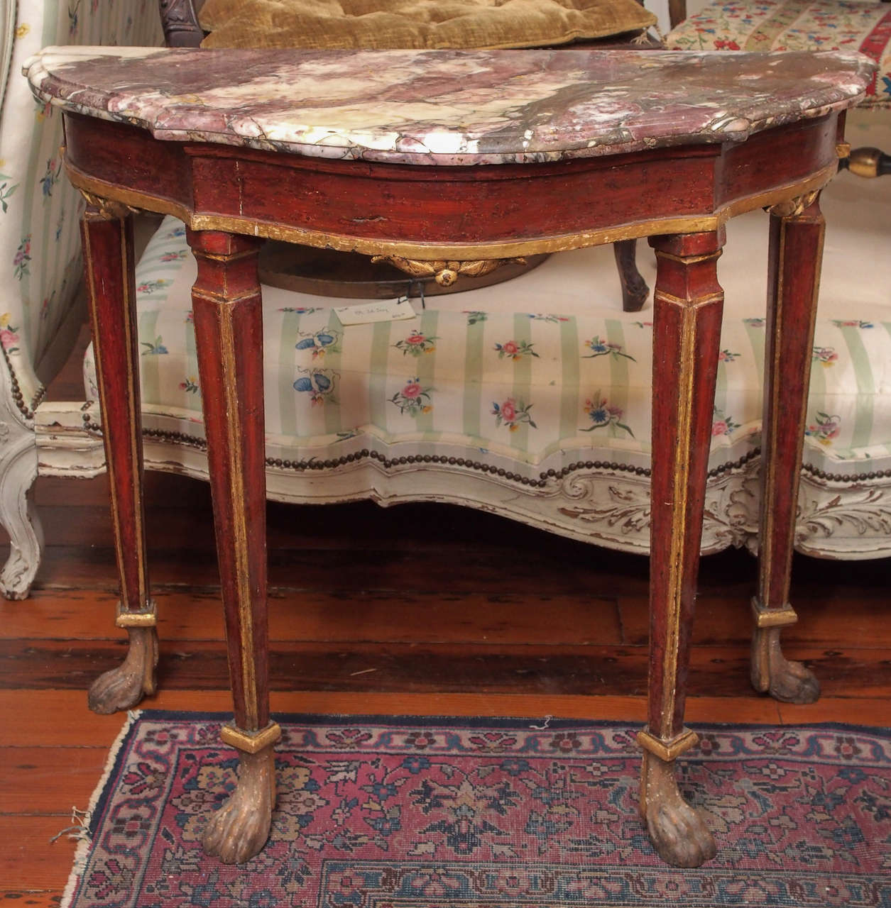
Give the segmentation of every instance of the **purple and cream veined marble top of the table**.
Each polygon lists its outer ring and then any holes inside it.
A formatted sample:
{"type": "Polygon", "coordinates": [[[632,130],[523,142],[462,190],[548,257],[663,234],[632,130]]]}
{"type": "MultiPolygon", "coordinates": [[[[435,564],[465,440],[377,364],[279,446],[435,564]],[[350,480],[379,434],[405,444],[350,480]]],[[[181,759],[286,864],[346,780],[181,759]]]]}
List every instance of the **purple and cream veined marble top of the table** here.
{"type": "Polygon", "coordinates": [[[35,96],[158,139],[325,158],[537,163],[752,133],[856,104],[861,54],[48,47],[35,96]]]}

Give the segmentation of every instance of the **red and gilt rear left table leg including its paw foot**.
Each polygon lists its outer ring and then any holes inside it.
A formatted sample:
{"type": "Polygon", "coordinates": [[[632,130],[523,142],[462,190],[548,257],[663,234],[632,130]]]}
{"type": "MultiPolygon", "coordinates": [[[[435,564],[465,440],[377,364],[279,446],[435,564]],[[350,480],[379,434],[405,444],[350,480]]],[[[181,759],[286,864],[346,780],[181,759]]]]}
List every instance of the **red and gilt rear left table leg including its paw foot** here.
{"type": "Polygon", "coordinates": [[[116,623],[130,638],[124,662],[95,680],[88,702],[96,713],[114,713],[155,692],[158,646],[145,558],[133,216],[115,202],[88,202],[81,238],[121,580],[116,623]]]}

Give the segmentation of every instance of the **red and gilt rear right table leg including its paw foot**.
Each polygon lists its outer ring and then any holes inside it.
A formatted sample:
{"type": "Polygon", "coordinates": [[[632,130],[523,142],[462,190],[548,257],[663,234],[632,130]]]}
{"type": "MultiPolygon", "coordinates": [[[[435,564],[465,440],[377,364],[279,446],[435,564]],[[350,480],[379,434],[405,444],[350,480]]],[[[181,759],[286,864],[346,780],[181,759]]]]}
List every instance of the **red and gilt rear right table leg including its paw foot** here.
{"type": "Polygon", "coordinates": [[[771,212],[752,684],[787,703],[820,696],[813,673],[783,656],[780,631],[797,619],[789,577],[824,232],[813,196],[771,212]]]}

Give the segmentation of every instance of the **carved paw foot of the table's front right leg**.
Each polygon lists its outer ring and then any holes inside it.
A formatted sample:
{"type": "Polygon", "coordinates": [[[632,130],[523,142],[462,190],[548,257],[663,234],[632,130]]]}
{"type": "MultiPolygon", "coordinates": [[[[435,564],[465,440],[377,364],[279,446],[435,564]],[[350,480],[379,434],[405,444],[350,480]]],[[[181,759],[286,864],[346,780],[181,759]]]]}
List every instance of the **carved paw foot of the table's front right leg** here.
{"type": "Polygon", "coordinates": [[[715,839],[703,815],[677,790],[674,761],[666,763],[655,754],[644,754],[640,814],[650,842],[666,864],[698,867],[715,857],[715,839]]]}

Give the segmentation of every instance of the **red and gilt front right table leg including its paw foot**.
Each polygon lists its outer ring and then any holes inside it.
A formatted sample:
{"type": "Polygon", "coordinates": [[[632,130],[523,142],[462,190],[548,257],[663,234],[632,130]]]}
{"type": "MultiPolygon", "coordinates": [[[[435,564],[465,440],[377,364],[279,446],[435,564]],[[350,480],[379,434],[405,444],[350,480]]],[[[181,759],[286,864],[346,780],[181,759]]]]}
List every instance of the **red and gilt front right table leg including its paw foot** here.
{"type": "Polygon", "coordinates": [[[668,864],[697,867],[716,852],[702,815],[677,790],[674,761],[696,745],[684,727],[690,630],[702,540],[708,449],[724,293],[723,232],[653,237],[653,479],[650,677],[640,811],[668,864]]]}

